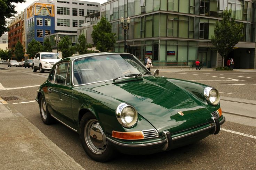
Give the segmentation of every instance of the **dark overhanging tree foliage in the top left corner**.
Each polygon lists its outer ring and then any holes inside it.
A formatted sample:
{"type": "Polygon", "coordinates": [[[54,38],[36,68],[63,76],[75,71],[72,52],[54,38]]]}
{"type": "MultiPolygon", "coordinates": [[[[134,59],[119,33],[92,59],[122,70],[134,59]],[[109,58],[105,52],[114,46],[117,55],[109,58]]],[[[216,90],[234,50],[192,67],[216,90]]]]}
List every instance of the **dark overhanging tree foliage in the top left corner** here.
{"type": "Polygon", "coordinates": [[[0,37],[3,35],[3,33],[8,31],[7,28],[7,19],[14,17],[15,14],[17,14],[17,11],[15,11],[15,4],[14,3],[22,3],[26,2],[25,0],[0,0],[0,37]]]}

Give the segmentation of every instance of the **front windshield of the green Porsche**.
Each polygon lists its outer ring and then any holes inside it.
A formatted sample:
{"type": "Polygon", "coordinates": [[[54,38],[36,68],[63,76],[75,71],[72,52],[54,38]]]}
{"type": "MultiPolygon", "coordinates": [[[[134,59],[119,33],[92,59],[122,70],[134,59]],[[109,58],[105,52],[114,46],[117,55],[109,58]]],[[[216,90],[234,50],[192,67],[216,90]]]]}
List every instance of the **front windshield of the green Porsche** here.
{"type": "Polygon", "coordinates": [[[77,59],[73,62],[74,84],[113,80],[120,76],[149,74],[149,70],[131,54],[109,54],[77,59]]]}

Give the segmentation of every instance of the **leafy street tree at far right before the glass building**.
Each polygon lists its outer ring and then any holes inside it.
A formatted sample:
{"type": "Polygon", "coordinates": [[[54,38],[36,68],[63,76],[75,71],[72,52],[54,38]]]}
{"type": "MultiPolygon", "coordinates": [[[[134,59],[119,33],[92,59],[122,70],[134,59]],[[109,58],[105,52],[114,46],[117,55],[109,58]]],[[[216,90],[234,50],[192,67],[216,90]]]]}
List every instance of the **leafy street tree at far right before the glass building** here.
{"type": "Polygon", "coordinates": [[[223,11],[223,19],[216,23],[214,28],[214,35],[211,35],[211,42],[217,48],[218,53],[223,59],[233,50],[232,48],[243,37],[243,24],[235,22],[235,16],[231,17],[231,9],[223,11]]]}

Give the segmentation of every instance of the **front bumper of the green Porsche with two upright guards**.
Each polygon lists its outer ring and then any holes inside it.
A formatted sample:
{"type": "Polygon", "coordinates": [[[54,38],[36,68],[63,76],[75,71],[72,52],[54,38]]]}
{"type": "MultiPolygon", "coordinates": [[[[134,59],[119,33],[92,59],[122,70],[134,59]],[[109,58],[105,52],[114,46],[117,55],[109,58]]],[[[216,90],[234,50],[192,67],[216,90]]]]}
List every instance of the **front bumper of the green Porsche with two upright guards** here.
{"type": "Polygon", "coordinates": [[[183,132],[180,134],[171,134],[169,131],[163,131],[162,136],[159,138],[151,139],[150,141],[123,141],[115,139],[110,136],[107,137],[107,141],[110,145],[114,146],[119,152],[125,154],[151,154],[161,151],[168,151],[173,148],[188,145],[211,134],[217,134],[220,125],[225,122],[225,117],[222,116],[220,121],[207,124],[203,127],[198,127],[191,130],[189,133],[183,132]],[[222,118],[223,117],[223,118],[222,118]]]}

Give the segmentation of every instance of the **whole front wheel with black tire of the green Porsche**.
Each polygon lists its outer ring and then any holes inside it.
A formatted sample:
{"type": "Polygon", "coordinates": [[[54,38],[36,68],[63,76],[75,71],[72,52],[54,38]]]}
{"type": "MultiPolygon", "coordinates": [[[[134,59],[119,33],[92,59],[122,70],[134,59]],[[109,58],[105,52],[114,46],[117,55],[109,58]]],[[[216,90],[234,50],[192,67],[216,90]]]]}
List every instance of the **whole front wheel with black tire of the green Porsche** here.
{"type": "Polygon", "coordinates": [[[79,128],[83,149],[91,159],[106,162],[113,158],[114,149],[107,143],[106,135],[93,114],[87,112],[83,115],[79,128]]]}

